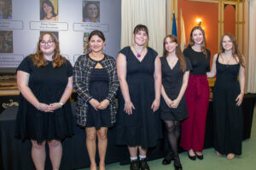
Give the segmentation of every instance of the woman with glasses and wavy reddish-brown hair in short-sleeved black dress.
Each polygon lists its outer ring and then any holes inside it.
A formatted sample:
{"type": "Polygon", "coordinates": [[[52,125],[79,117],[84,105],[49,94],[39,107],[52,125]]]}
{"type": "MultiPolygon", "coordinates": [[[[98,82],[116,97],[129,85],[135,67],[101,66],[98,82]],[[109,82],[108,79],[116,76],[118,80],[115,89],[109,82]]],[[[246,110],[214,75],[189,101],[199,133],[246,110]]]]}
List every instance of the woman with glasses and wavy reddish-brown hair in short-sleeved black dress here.
{"type": "Polygon", "coordinates": [[[16,138],[31,139],[32,160],[44,169],[45,144],[49,144],[52,169],[61,163],[61,140],[73,135],[69,97],[73,90],[73,68],[60,55],[59,42],[51,33],[39,37],[36,54],[23,59],[17,68],[20,89],[16,138]]]}

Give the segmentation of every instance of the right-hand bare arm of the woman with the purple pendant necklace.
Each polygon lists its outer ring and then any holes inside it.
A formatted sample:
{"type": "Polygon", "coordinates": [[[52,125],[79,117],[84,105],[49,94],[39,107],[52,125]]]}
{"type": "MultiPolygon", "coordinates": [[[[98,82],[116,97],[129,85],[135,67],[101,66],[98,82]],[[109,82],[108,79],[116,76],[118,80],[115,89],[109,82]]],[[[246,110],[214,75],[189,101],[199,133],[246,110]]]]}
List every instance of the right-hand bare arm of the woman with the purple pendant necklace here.
{"type": "Polygon", "coordinates": [[[154,60],[154,101],[151,105],[153,111],[157,111],[160,106],[160,94],[161,94],[162,74],[161,74],[161,62],[160,58],[156,56],[154,60]]]}

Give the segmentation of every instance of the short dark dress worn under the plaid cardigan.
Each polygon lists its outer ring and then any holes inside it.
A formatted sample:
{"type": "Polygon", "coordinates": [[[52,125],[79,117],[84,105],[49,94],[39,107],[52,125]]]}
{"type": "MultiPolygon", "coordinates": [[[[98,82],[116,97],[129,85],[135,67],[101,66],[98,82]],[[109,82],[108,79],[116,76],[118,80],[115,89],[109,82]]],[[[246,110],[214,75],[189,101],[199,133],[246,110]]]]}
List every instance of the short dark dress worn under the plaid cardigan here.
{"type": "MultiPolygon", "coordinates": [[[[108,96],[108,72],[105,69],[93,69],[90,74],[89,93],[93,99],[101,102],[108,96]]],[[[86,127],[111,127],[109,105],[105,110],[96,111],[89,105],[86,127]]]]}

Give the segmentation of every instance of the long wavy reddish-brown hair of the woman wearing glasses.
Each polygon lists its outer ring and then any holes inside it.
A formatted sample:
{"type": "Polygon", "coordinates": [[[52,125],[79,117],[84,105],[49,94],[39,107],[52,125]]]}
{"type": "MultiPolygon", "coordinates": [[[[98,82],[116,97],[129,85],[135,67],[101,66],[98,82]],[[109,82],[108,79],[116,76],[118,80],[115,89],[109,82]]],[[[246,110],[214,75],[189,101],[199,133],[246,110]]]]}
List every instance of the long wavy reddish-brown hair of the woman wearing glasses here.
{"type": "Polygon", "coordinates": [[[55,54],[52,57],[52,66],[53,67],[60,67],[66,61],[65,57],[62,57],[60,54],[60,45],[55,36],[50,32],[44,32],[40,35],[38,41],[38,48],[35,54],[31,54],[33,64],[36,65],[38,68],[40,66],[46,66],[47,61],[44,59],[44,54],[40,48],[40,42],[43,40],[44,35],[48,34],[52,41],[55,42],[55,54]]]}

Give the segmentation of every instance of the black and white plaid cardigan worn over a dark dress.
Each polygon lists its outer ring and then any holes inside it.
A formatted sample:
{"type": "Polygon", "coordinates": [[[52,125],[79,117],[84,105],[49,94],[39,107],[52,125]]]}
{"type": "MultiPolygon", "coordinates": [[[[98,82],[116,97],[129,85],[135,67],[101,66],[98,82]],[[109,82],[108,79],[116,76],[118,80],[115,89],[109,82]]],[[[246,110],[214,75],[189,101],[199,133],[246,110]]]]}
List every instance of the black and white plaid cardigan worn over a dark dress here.
{"type": "Polygon", "coordinates": [[[92,98],[89,93],[90,73],[97,63],[100,63],[108,72],[108,97],[110,108],[110,121],[113,124],[116,116],[116,105],[114,102],[115,95],[119,88],[119,80],[115,66],[115,60],[104,54],[105,57],[100,61],[90,59],[89,54],[79,56],[73,69],[73,86],[78,93],[78,102],[76,106],[76,115],[78,124],[86,126],[86,116],[88,114],[89,100],[92,98]]]}

